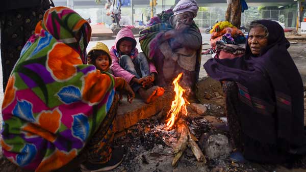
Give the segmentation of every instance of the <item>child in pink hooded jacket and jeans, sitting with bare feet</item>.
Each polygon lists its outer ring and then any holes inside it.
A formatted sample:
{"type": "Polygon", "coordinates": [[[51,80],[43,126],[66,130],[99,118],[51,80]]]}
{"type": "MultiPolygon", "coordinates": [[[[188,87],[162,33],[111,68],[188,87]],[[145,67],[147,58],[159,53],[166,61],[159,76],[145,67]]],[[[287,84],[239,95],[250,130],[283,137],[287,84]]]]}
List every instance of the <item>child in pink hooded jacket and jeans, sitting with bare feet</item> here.
{"type": "Polygon", "coordinates": [[[130,27],[123,27],[117,34],[110,53],[111,69],[116,77],[124,78],[133,91],[139,93],[145,103],[154,101],[164,94],[164,89],[152,86],[157,75],[153,63],[149,63],[144,53],[138,53],[136,40],[130,27]]]}

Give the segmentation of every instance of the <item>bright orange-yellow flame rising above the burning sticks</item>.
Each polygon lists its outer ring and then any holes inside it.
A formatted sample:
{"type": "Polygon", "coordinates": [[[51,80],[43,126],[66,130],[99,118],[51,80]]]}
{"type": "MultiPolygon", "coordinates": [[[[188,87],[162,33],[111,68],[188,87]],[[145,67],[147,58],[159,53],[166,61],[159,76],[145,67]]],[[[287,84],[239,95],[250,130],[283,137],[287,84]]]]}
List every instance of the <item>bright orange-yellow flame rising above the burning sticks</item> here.
{"type": "Polygon", "coordinates": [[[166,120],[167,129],[171,129],[175,121],[180,118],[180,112],[182,112],[185,116],[187,116],[188,113],[186,104],[190,103],[183,97],[183,94],[186,92],[186,90],[184,90],[179,84],[182,75],[183,73],[177,75],[177,77],[172,82],[172,84],[174,85],[175,97],[172,101],[171,108],[167,114],[167,117],[169,117],[166,120]]]}

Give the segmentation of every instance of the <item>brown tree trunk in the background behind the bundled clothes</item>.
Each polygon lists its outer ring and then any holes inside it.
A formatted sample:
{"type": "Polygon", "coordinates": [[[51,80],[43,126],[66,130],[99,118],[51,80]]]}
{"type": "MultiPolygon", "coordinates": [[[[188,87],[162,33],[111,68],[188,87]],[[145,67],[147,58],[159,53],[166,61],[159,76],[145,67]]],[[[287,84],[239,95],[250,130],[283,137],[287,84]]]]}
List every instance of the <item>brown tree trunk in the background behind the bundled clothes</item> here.
{"type": "Polygon", "coordinates": [[[231,22],[237,28],[240,28],[241,24],[241,8],[240,0],[232,0],[232,3],[228,4],[225,14],[225,20],[231,22]]]}

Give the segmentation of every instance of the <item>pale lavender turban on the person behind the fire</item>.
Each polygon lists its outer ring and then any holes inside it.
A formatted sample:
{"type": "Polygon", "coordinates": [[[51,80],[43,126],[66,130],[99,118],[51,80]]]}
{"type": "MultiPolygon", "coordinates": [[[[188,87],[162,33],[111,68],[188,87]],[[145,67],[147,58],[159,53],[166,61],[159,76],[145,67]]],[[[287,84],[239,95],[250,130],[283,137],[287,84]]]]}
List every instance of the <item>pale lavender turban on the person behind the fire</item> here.
{"type": "Polygon", "coordinates": [[[199,7],[197,6],[195,0],[181,0],[173,8],[173,13],[176,15],[184,12],[191,12],[194,14],[194,17],[196,17],[198,9],[199,7]]]}

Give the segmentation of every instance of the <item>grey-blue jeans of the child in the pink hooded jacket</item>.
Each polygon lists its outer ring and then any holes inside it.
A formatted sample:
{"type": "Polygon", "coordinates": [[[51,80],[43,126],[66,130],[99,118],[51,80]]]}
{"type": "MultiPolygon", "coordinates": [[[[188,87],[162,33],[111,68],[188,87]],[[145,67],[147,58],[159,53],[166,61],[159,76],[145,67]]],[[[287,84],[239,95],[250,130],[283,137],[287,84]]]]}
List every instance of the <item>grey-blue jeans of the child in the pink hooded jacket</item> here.
{"type": "MultiPolygon", "coordinates": [[[[129,55],[122,55],[119,64],[121,68],[135,75],[136,78],[142,78],[150,74],[149,63],[144,53],[139,53],[134,59],[131,59],[129,55]]],[[[133,83],[131,87],[134,92],[137,92],[142,85],[133,83]]]]}

